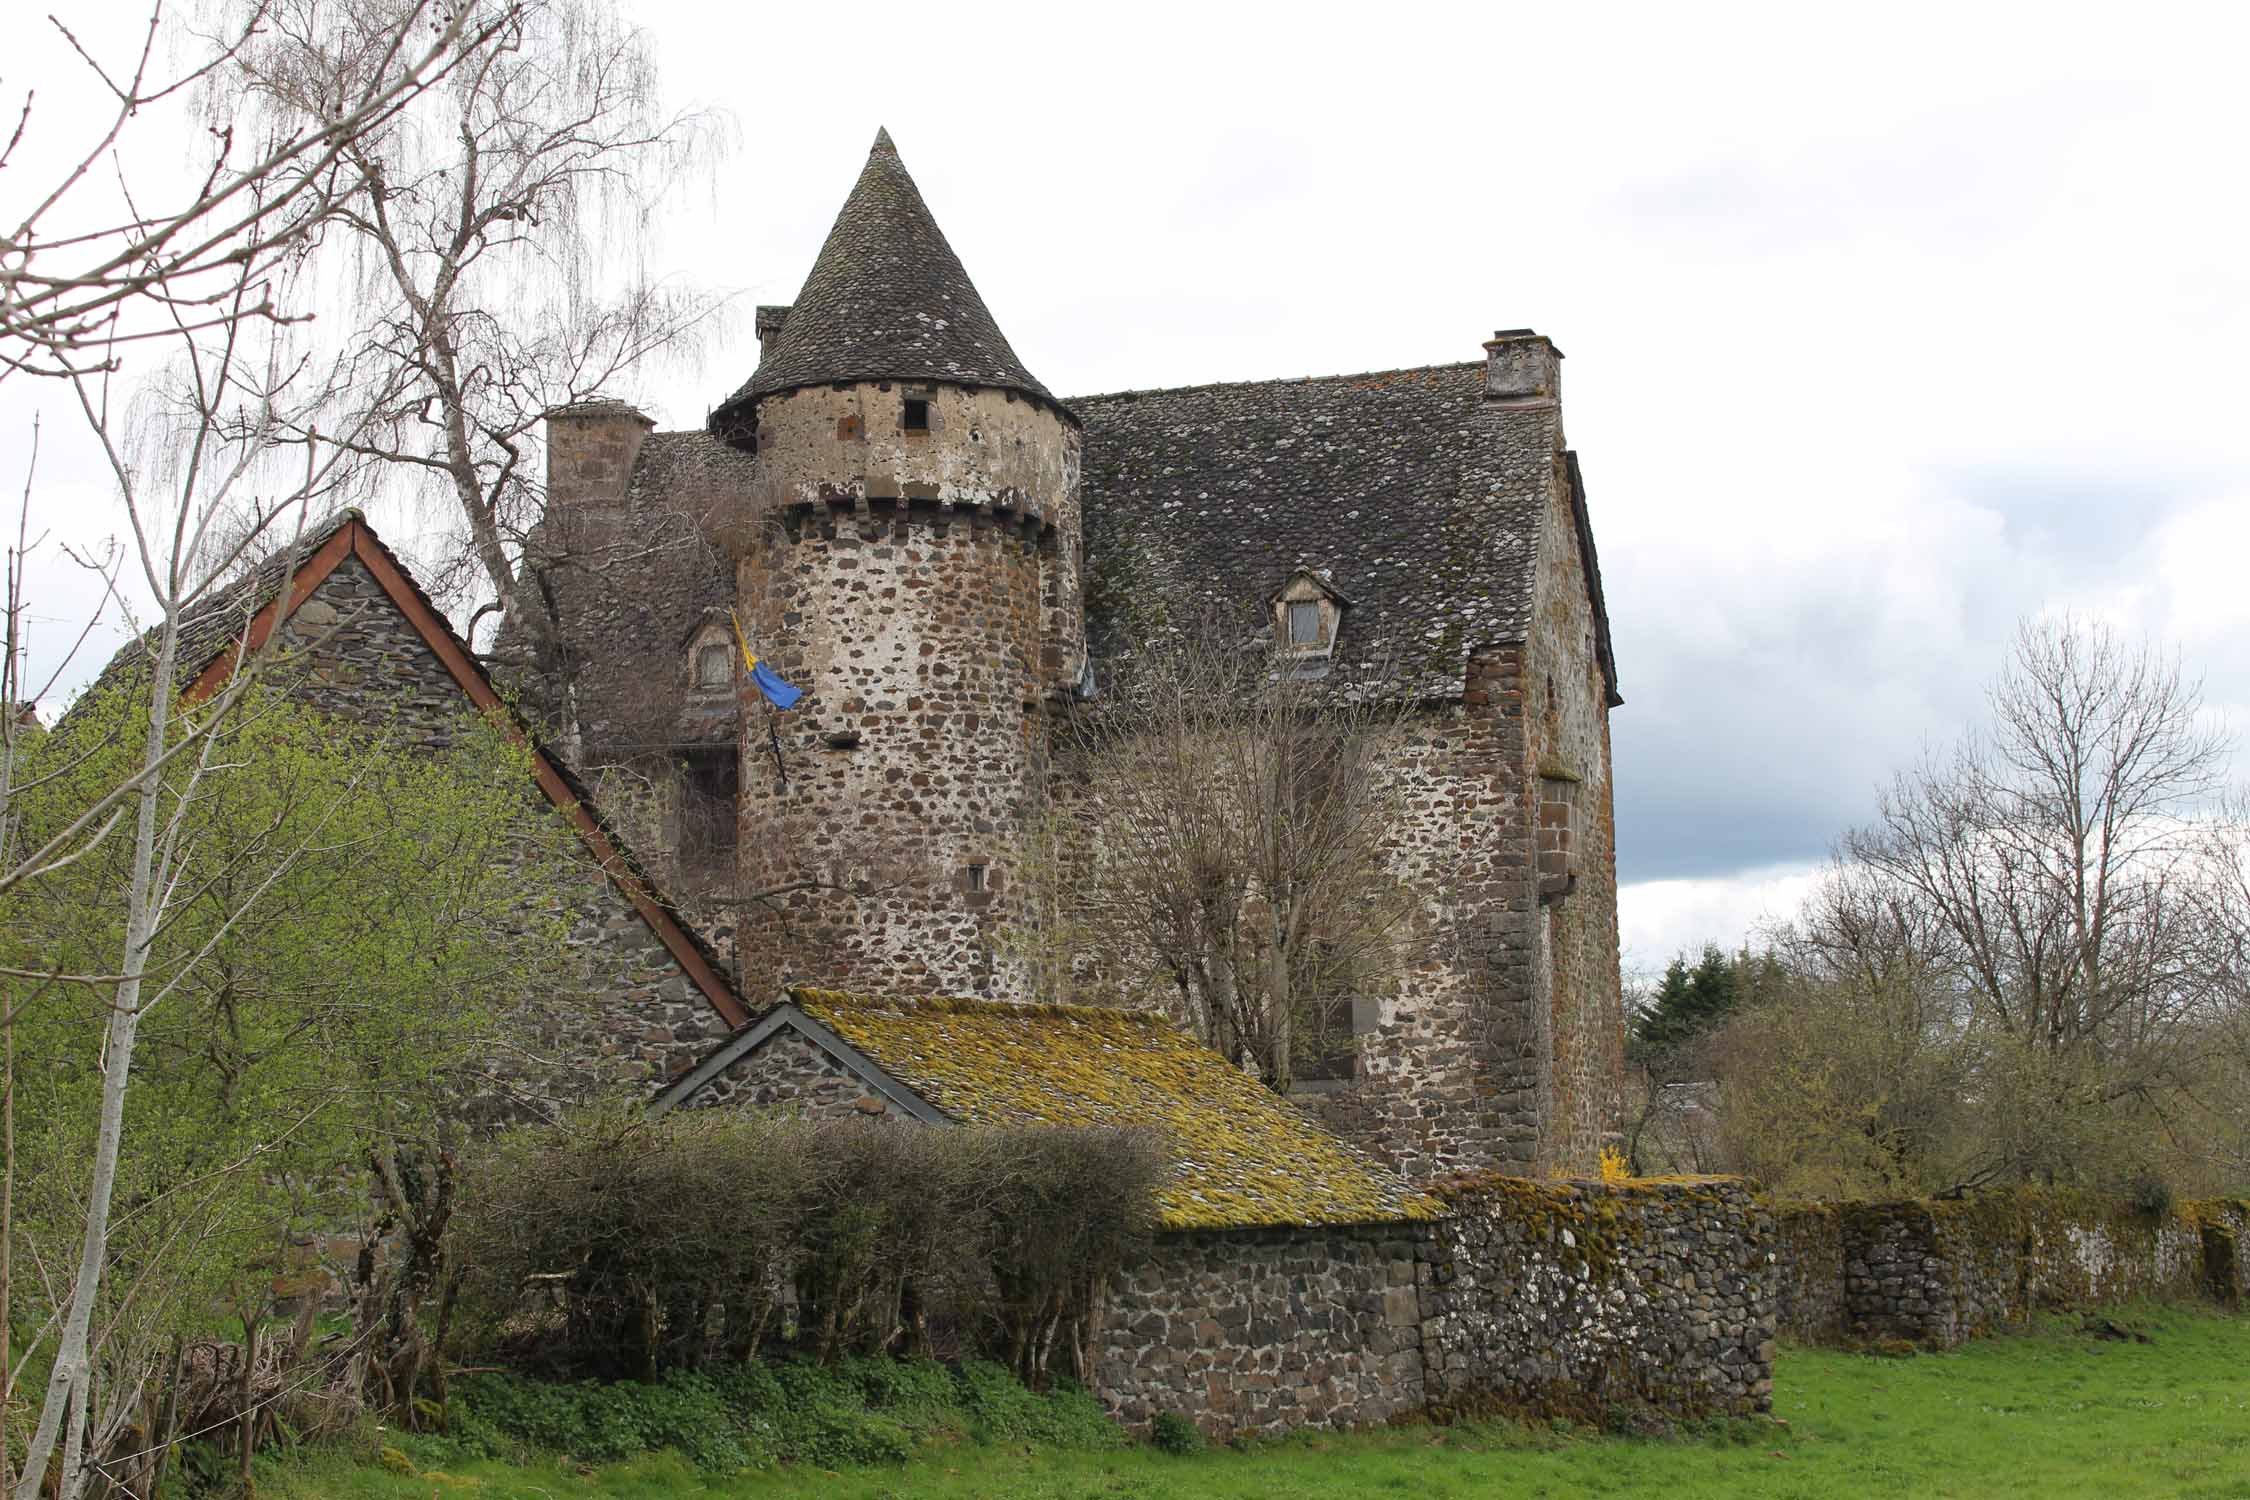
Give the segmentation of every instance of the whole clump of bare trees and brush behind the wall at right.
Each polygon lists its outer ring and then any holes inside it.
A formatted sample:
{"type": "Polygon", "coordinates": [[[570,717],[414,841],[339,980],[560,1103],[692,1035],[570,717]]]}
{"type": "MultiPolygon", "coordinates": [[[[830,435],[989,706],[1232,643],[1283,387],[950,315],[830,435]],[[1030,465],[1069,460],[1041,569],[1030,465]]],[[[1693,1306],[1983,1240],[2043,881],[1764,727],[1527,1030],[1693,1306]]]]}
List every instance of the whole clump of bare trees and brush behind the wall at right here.
{"type": "Polygon", "coordinates": [[[1773,936],[1791,983],[1717,1048],[1732,1165],[1845,1190],[2223,1185],[2228,735],[2178,663],[2070,618],[2018,630],[1989,708],[1773,936]]]}

